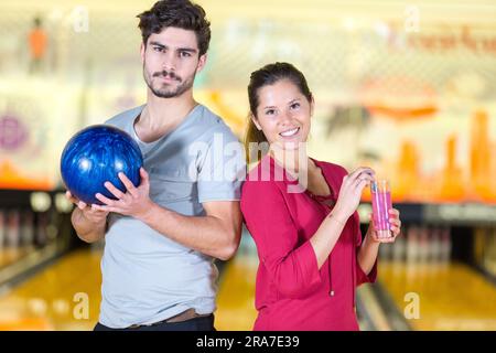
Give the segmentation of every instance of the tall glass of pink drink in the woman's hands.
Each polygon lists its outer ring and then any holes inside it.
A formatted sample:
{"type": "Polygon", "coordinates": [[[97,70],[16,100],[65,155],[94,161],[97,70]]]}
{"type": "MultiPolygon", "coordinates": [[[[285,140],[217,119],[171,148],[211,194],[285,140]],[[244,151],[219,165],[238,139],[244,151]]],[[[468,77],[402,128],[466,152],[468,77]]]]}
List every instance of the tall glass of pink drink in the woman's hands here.
{"type": "Polygon", "coordinates": [[[378,238],[389,238],[392,236],[389,224],[389,210],[391,205],[391,191],[387,180],[377,180],[370,183],[370,194],[373,200],[374,228],[378,238]]]}

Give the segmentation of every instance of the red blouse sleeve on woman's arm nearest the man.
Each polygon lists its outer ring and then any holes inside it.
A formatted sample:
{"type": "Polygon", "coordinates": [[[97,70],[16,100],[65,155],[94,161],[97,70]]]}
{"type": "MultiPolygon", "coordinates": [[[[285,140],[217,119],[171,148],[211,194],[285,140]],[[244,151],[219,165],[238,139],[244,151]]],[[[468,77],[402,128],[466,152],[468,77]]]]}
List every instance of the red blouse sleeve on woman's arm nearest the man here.
{"type": "Polygon", "coordinates": [[[309,240],[299,242],[298,229],[277,185],[247,181],[241,212],[260,264],[279,293],[300,299],[313,292],[322,282],[315,252],[309,240]]]}

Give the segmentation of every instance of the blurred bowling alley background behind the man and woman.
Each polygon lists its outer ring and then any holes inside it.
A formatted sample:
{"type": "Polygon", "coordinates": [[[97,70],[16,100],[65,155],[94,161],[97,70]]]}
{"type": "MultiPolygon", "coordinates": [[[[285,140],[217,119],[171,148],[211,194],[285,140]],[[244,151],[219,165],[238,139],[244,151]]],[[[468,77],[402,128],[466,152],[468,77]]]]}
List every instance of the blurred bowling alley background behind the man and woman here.
{"type": "MultiPolygon", "coordinates": [[[[360,328],[496,330],[496,1],[197,2],[213,31],[198,101],[242,138],[250,73],[291,62],[315,96],[311,156],[390,180],[402,236],[358,290],[360,328]]],[[[98,320],[104,244],[74,234],[60,156],[77,130],[145,101],[136,15],[153,3],[0,3],[0,330],[98,320]]],[[[246,229],[217,265],[217,329],[250,330],[246,229]]]]}

